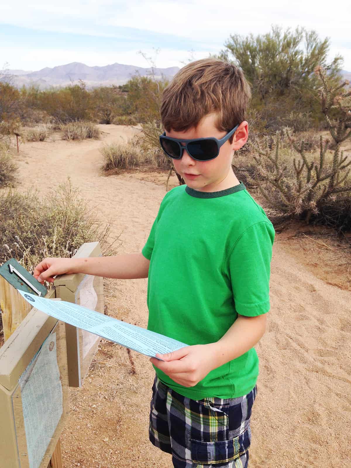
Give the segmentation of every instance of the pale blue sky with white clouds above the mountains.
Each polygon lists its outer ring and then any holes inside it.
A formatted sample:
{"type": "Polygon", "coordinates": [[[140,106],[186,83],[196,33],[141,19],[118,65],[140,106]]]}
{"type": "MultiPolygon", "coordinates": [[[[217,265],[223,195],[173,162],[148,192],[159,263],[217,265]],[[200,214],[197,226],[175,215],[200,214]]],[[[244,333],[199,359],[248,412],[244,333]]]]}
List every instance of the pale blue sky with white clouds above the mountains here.
{"type": "Polygon", "coordinates": [[[140,50],[158,67],[181,67],[190,57],[219,52],[231,34],[264,34],[277,24],[329,37],[330,57],[340,53],[344,70],[351,71],[350,5],[350,0],[60,0],[52,5],[5,0],[0,69],[5,63],[10,69],[39,70],[70,62],[147,67],[140,50]]]}

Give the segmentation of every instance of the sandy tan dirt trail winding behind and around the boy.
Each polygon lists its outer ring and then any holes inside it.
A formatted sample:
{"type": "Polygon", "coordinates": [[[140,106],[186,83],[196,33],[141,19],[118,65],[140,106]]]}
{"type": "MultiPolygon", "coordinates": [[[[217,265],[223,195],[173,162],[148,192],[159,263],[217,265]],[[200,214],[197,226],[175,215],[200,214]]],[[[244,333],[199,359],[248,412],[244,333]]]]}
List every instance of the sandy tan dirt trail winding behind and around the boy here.
{"type": "MultiPolygon", "coordinates": [[[[21,146],[19,190],[48,190],[70,176],[101,222],[121,234],[120,253],[138,252],[165,195],[147,177],[100,173],[99,148],[132,129],[100,125],[101,140],[21,146]]],[[[155,176],[157,182],[157,177],[155,176]]],[[[171,187],[176,184],[173,178],[171,187]]],[[[116,318],[146,327],[147,280],[105,280],[116,318]]],[[[250,468],[351,466],[351,294],[315,278],[277,235],[268,329],[256,346],[258,395],[252,416],[250,468]]],[[[81,389],[70,389],[62,434],[65,468],[171,468],[170,455],[148,441],[154,371],[148,358],[102,340],[81,389]]]]}

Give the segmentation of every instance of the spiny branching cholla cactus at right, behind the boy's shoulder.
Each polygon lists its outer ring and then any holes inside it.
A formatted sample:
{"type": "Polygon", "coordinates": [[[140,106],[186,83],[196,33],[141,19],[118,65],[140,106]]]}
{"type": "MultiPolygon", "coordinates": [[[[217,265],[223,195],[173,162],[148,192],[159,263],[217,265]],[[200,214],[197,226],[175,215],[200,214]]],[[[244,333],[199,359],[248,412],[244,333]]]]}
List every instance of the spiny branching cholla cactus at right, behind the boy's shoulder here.
{"type": "Polygon", "coordinates": [[[298,215],[308,223],[312,214],[337,194],[351,191],[349,174],[351,161],[340,151],[340,145],[351,136],[351,90],[346,86],[348,80],[336,87],[329,85],[328,78],[321,66],[314,72],[319,76],[322,86],[319,89],[322,113],[328,129],[335,142],[331,162],[326,162],[326,152],[330,140],[320,137],[320,153],[317,160],[311,160],[305,152],[305,143],[300,145],[292,138],[291,132],[285,130],[295,152],[292,165],[281,161],[281,134],[277,133],[273,145],[258,148],[256,177],[246,174],[249,182],[258,185],[263,196],[272,206],[281,211],[298,215]],[[273,190],[272,190],[273,189],[273,190]]]}

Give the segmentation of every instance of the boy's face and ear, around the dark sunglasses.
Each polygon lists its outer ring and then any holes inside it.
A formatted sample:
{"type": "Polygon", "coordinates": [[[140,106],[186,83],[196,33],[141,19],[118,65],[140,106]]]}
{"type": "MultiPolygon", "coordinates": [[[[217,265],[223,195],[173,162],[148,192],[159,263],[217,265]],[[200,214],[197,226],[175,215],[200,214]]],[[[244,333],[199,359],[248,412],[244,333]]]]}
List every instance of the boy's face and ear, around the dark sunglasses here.
{"type": "MultiPolygon", "coordinates": [[[[197,129],[190,128],[186,132],[171,130],[166,135],[177,139],[195,139],[215,137],[223,138],[227,132],[221,132],[215,127],[215,113],[206,115],[198,124],[197,129]]],[[[241,122],[234,133],[233,143],[227,140],[219,148],[219,155],[211,161],[196,161],[184,149],[181,159],[173,159],[177,173],[185,183],[194,190],[216,192],[233,187],[239,183],[232,169],[234,151],[241,148],[248,139],[248,123],[241,122]]],[[[182,142],[182,145],[185,145],[182,142]]]]}

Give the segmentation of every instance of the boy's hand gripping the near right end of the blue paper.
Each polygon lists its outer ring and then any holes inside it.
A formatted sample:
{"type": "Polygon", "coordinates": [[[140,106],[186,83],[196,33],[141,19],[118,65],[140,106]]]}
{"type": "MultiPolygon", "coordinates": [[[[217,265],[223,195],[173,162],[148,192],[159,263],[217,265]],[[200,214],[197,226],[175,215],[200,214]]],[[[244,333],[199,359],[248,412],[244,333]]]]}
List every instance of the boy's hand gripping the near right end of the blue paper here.
{"type": "Polygon", "coordinates": [[[150,362],[183,387],[194,387],[204,379],[216,365],[214,343],[186,346],[168,354],[159,354],[150,358],[150,362]]]}

